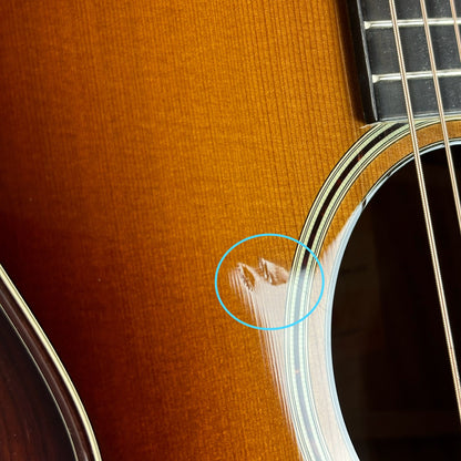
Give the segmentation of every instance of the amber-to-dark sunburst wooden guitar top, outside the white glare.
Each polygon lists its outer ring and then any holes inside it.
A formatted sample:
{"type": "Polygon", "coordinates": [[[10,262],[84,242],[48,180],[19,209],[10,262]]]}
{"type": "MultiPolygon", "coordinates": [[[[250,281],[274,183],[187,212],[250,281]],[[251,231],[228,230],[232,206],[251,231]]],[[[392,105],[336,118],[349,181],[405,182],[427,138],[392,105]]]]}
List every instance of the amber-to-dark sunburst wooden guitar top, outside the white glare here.
{"type": "MultiPolygon", "coordinates": [[[[315,247],[309,211],[371,133],[386,154],[315,248],[328,284],[327,246],[412,150],[408,132],[366,126],[345,2],[3,0],[0,30],[0,264],[102,459],[299,459],[264,340],[214,279],[248,236],[315,247]]],[[[440,140],[421,125],[423,145],[440,140]]]]}

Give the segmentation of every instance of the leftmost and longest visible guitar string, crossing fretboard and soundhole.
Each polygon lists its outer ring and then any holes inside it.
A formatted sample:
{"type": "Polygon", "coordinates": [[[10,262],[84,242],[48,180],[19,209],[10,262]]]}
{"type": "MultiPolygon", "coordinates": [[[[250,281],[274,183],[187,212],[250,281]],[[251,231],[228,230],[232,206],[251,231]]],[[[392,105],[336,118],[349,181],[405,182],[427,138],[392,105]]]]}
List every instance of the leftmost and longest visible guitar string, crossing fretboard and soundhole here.
{"type": "Polygon", "coordinates": [[[399,60],[400,75],[402,79],[403,96],[404,96],[404,103],[406,103],[406,109],[407,109],[411,143],[413,146],[413,157],[414,157],[414,164],[417,168],[417,176],[418,176],[418,184],[419,184],[419,189],[420,189],[420,195],[421,195],[422,209],[424,214],[426,229],[428,233],[430,255],[431,255],[432,267],[433,267],[434,278],[436,278],[437,294],[439,297],[439,306],[440,306],[440,311],[441,311],[442,321],[443,321],[443,330],[444,330],[448,355],[449,355],[449,360],[450,360],[451,375],[453,378],[454,393],[455,393],[457,406],[458,406],[458,416],[461,422],[460,375],[458,370],[453,336],[451,332],[450,319],[448,315],[447,299],[445,299],[444,289],[443,289],[442,275],[440,270],[440,263],[439,263],[437,245],[436,245],[436,237],[434,237],[433,227],[432,227],[428,193],[426,191],[426,182],[424,182],[424,176],[422,172],[421,157],[420,157],[419,145],[418,145],[418,136],[417,136],[417,130],[416,130],[416,124],[414,124],[414,114],[413,114],[413,109],[412,109],[411,99],[410,99],[410,91],[409,91],[407,71],[406,71],[406,65],[404,65],[404,60],[403,60],[403,51],[402,51],[402,44],[401,44],[401,39],[400,39],[400,31],[399,31],[399,25],[398,25],[395,0],[389,0],[389,7],[390,7],[390,12],[391,12],[392,30],[393,30],[395,41],[396,41],[397,55],[399,60]]]}

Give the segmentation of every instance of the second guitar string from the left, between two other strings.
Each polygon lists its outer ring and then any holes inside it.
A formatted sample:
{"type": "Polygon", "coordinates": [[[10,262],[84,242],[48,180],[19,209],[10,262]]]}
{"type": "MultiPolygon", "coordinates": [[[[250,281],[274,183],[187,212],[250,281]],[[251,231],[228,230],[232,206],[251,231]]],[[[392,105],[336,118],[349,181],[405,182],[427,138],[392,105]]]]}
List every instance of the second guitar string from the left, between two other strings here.
{"type": "Polygon", "coordinates": [[[436,90],[437,107],[439,111],[440,125],[441,125],[442,133],[443,133],[443,144],[445,147],[448,170],[450,173],[451,189],[452,189],[453,198],[454,198],[454,208],[457,211],[458,227],[460,228],[460,233],[461,233],[460,193],[458,189],[457,173],[454,171],[453,155],[451,153],[451,145],[450,145],[450,136],[448,134],[447,119],[445,119],[445,113],[443,110],[442,93],[440,91],[440,82],[439,82],[439,76],[437,74],[436,55],[433,52],[432,37],[431,37],[430,29],[429,29],[429,18],[428,18],[428,10],[426,8],[426,0],[420,0],[420,6],[421,6],[421,12],[422,12],[422,22],[424,25],[426,42],[428,44],[428,51],[429,51],[429,61],[431,65],[432,81],[433,81],[433,86],[436,90]]]}

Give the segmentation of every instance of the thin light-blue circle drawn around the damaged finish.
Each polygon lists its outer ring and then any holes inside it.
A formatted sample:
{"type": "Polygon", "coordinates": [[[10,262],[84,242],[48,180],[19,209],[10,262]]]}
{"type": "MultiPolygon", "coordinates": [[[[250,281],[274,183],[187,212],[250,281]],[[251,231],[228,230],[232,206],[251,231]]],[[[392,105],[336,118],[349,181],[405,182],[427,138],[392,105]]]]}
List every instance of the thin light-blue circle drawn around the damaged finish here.
{"type": "Polygon", "coordinates": [[[321,267],[321,264],[320,264],[320,262],[318,260],[318,257],[317,257],[317,255],[308,247],[308,246],[306,246],[304,243],[301,243],[301,242],[299,242],[299,240],[297,240],[296,238],[293,238],[293,237],[290,237],[290,236],[288,236],[288,235],[284,235],[284,234],[256,234],[256,235],[250,235],[249,237],[246,237],[246,238],[244,238],[244,239],[242,239],[240,242],[237,242],[235,245],[233,245],[225,254],[224,254],[224,256],[221,258],[221,260],[219,260],[219,263],[218,263],[218,265],[217,265],[217,267],[216,267],[216,272],[215,272],[215,291],[216,291],[216,296],[217,296],[217,299],[219,300],[219,304],[221,304],[221,306],[223,307],[223,309],[234,319],[234,320],[237,320],[239,324],[242,324],[242,325],[245,325],[246,327],[249,327],[249,328],[254,328],[255,330],[264,330],[264,331],[269,331],[269,330],[283,330],[283,329],[285,329],[285,328],[289,328],[289,327],[294,327],[295,325],[298,325],[298,324],[300,324],[303,320],[306,320],[306,318],[307,317],[309,317],[310,316],[310,314],[313,314],[314,313],[314,310],[316,310],[316,308],[317,308],[317,306],[319,305],[319,303],[320,303],[320,299],[321,299],[321,297],[322,297],[322,295],[324,295],[324,289],[325,289],[325,274],[324,274],[324,268],[321,267]],[[227,307],[226,307],[226,305],[223,303],[223,299],[221,299],[221,296],[219,296],[219,290],[218,290],[218,288],[217,288],[217,277],[218,277],[218,274],[219,274],[219,269],[221,269],[221,266],[222,266],[222,264],[223,264],[223,262],[224,262],[224,259],[226,259],[226,257],[227,257],[227,255],[234,249],[234,248],[236,248],[238,245],[242,245],[243,243],[245,243],[245,242],[248,242],[248,240],[252,240],[252,239],[254,239],[254,238],[259,238],[259,237],[280,237],[280,238],[286,238],[287,240],[291,240],[291,242],[295,242],[295,243],[297,243],[298,245],[300,245],[304,249],[307,249],[309,253],[310,253],[310,255],[313,256],[313,258],[316,260],[316,263],[317,263],[317,265],[318,265],[318,268],[320,269],[320,275],[321,275],[321,289],[320,289],[320,295],[319,295],[319,297],[318,297],[318,299],[317,299],[317,303],[314,305],[314,307],[304,316],[304,317],[301,317],[300,319],[298,319],[298,320],[296,320],[296,321],[294,321],[293,324],[288,324],[288,325],[283,325],[281,327],[258,327],[258,326],[256,326],[256,325],[252,325],[252,324],[247,324],[246,321],[244,321],[244,320],[240,320],[238,317],[236,317],[234,314],[232,314],[230,313],[230,310],[229,309],[227,309],[227,307]]]}

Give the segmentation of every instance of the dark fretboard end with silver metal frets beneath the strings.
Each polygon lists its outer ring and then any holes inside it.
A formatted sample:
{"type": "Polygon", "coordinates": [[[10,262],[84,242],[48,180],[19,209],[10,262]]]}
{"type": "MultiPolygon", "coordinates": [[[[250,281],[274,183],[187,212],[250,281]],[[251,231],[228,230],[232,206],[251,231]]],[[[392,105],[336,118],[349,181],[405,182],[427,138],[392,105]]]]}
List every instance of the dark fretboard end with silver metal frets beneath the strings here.
{"type": "MultiPolygon", "coordinates": [[[[350,0],[367,122],[406,120],[406,106],[387,0],[350,0]]],[[[455,27],[461,25],[461,0],[455,0],[457,25],[449,0],[427,0],[437,76],[448,115],[461,113],[461,60],[455,27]]],[[[417,117],[438,115],[433,75],[420,0],[396,0],[398,24],[417,117]]]]}

